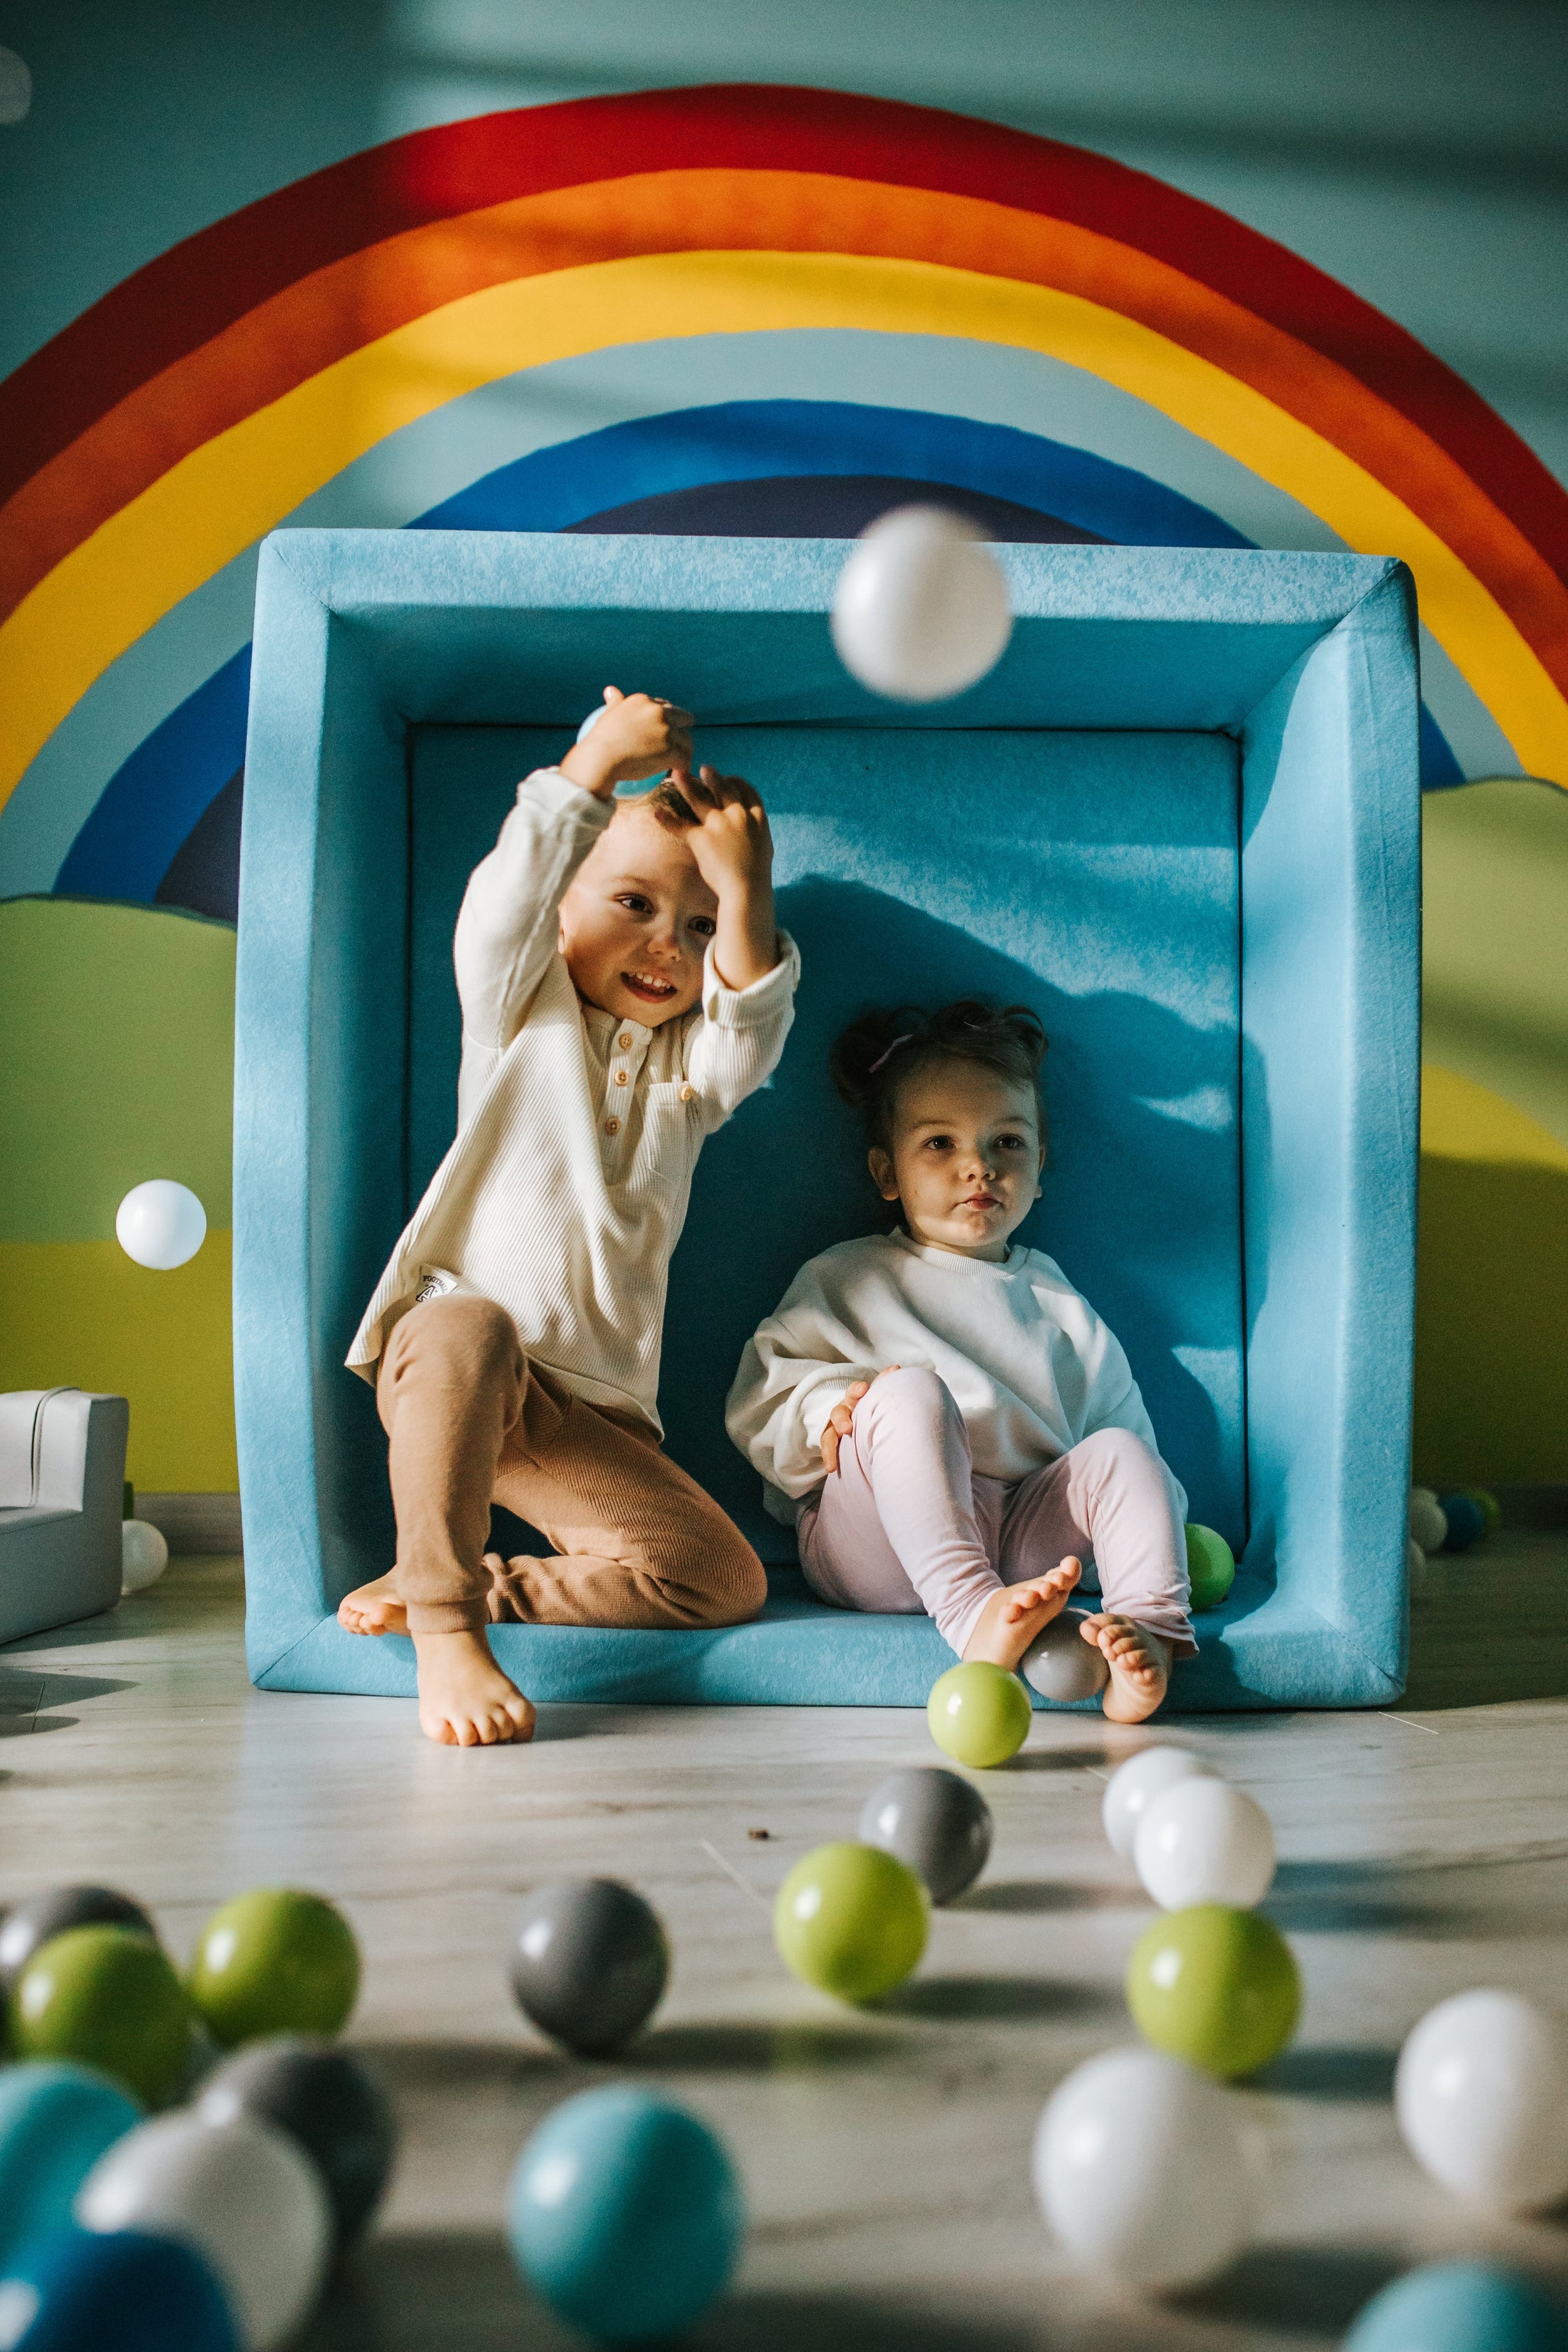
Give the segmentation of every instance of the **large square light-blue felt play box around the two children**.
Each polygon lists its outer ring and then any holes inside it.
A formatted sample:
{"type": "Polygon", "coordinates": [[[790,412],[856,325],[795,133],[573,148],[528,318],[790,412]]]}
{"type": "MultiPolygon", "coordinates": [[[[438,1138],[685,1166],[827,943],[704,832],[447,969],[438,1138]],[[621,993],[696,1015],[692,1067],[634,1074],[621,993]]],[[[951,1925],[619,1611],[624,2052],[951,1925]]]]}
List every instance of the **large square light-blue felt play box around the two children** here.
{"type": "MultiPolygon", "coordinates": [[[[515,776],[604,675],[717,722],[769,795],[802,1014],[708,1145],[677,1254],[672,1451],[769,1552],[719,1432],[802,1256],[877,1223],[823,1047],[959,985],[1053,1035],[1030,1232],[1103,1308],[1194,1515],[1244,1550],[1175,1705],[1349,1705],[1403,1672],[1418,717],[1403,572],[1009,548],[1018,628],[950,706],[875,703],[825,607],[844,548],[287,532],[259,581],[240,894],[235,1378],[256,1679],[411,1689],[331,1621],[390,1559],[341,1357],[451,1134],[451,917],[515,776]],[[736,729],[733,734],[726,731],[736,729]],[[411,861],[414,849],[414,861],[411,861]],[[411,863],[409,863],[411,861],[411,863]],[[766,1176],[736,1214],[743,1167],[766,1176]]],[[[926,1621],[780,1578],[717,1635],[501,1628],[543,1698],[917,1705],[926,1621]]]]}

